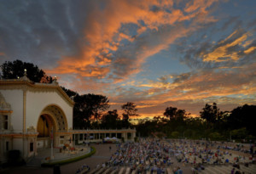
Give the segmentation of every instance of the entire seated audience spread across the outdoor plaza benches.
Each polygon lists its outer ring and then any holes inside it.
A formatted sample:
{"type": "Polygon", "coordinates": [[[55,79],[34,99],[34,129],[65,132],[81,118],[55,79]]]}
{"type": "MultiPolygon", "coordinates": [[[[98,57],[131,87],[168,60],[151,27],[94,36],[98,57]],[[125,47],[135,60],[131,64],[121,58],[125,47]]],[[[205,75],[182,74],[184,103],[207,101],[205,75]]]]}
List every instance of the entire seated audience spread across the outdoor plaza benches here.
{"type": "Polygon", "coordinates": [[[192,173],[198,173],[208,165],[233,164],[235,173],[239,164],[253,163],[254,155],[251,147],[242,144],[141,138],[138,143],[117,144],[110,159],[96,167],[108,167],[112,171],[126,167],[130,173],[157,174],[170,173],[167,170],[172,169],[171,172],[181,174],[180,166],[192,166],[192,173]]]}

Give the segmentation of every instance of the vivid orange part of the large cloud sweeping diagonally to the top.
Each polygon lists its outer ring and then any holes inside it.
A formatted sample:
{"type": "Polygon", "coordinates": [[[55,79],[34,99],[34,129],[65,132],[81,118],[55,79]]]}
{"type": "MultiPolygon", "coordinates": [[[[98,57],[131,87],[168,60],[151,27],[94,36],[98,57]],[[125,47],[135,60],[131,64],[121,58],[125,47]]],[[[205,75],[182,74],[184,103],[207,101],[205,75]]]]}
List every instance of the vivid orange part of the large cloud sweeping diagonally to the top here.
{"type": "MultiPolygon", "coordinates": [[[[81,36],[78,41],[80,52],[73,56],[63,56],[58,61],[58,66],[55,69],[46,71],[50,74],[74,73],[82,77],[102,78],[115,70],[115,76],[122,76],[122,73],[118,72],[119,69],[113,66],[113,64],[119,65],[119,62],[123,61],[122,57],[113,58],[115,53],[119,51],[120,43],[123,40],[127,40],[128,42],[133,42],[133,44],[141,44],[141,38],[133,37],[125,34],[124,31],[120,31],[122,25],[137,25],[137,35],[140,36],[148,30],[158,31],[162,26],[195,19],[197,16],[201,16],[202,13],[207,17],[206,8],[209,8],[214,2],[216,1],[187,3],[185,11],[189,14],[183,14],[182,10],[174,8],[172,1],[109,1],[104,4],[104,8],[100,8],[97,2],[93,2],[90,12],[84,21],[84,36],[81,36]],[[169,9],[171,12],[152,10],[152,7],[169,9]],[[144,25],[140,21],[143,21],[144,25]]],[[[202,20],[205,21],[205,19],[202,20]]],[[[161,36],[159,33],[161,42],[151,45],[150,41],[143,42],[143,45],[140,46],[142,49],[133,53],[134,58],[131,60],[135,61],[132,65],[133,68],[127,68],[124,75],[137,74],[141,70],[141,65],[149,56],[168,48],[178,37],[185,36],[188,32],[193,31],[192,28],[188,29],[183,25],[176,25],[176,27],[175,31],[163,34],[165,36],[161,36]]],[[[125,51],[122,54],[125,55],[125,51]]],[[[127,59],[124,61],[122,65],[130,64],[127,59]]],[[[125,79],[124,76],[122,77],[125,79]]],[[[122,81],[122,78],[116,78],[114,81],[122,81]]]]}

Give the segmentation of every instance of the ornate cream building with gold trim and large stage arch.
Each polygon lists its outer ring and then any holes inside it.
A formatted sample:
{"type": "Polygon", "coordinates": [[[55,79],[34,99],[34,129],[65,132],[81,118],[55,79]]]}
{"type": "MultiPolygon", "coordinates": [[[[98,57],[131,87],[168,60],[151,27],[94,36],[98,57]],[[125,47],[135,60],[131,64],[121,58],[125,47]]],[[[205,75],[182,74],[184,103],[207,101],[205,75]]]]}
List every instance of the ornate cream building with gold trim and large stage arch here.
{"type": "Polygon", "coordinates": [[[0,161],[18,149],[24,159],[38,149],[69,143],[73,127],[73,100],[54,80],[34,83],[26,75],[0,80],[0,161]]]}

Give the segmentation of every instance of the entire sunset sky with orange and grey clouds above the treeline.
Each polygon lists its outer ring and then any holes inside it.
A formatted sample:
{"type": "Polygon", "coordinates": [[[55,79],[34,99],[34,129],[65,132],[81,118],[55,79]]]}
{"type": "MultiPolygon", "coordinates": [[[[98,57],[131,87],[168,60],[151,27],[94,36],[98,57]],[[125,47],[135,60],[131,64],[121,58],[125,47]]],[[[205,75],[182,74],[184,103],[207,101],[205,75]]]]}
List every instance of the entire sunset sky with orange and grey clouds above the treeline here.
{"type": "Polygon", "coordinates": [[[232,110],[256,104],[256,1],[0,0],[0,64],[15,59],[140,118],[232,110]]]}

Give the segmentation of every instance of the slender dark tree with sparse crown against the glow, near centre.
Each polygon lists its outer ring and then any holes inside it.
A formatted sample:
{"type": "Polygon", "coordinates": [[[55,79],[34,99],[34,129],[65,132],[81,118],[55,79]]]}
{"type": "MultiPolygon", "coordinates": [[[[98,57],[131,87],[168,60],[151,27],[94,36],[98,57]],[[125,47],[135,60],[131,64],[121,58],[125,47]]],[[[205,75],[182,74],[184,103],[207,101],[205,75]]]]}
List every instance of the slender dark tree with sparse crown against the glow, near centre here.
{"type": "Polygon", "coordinates": [[[124,126],[127,127],[130,125],[129,123],[130,116],[138,116],[136,105],[134,103],[127,102],[126,104],[123,104],[121,108],[122,110],[124,110],[124,113],[123,113],[124,126]]]}

